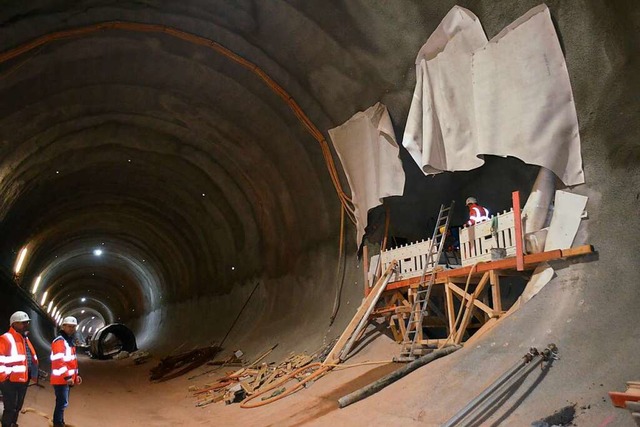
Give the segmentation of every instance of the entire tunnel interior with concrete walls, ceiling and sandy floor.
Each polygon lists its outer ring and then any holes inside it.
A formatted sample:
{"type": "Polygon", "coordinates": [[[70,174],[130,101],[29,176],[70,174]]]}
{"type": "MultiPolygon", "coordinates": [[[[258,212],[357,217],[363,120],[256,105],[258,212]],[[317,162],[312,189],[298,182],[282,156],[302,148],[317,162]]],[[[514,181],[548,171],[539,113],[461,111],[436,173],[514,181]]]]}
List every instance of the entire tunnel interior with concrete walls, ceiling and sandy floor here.
{"type": "MultiPolygon", "coordinates": [[[[275,361],[331,343],[362,301],[366,255],[329,130],[380,102],[402,141],[416,55],[447,12],[472,11],[491,38],[538,4],[1,5],[2,332],[27,311],[44,367],[69,315],[83,338],[126,325],[158,359],[221,343],[253,359],[277,344],[275,361]]],[[[546,4],[579,123],[584,183],[568,191],[589,198],[576,241],[596,255],[559,261],[549,285],[473,346],[349,408],[337,409],[325,380],[270,409],[194,408],[186,379],[150,384],[148,365],[133,374],[124,361],[82,359],[69,422],[441,425],[529,347],[554,342],[561,359],[548,375],[486,425],[529,425],[566,405],[579,425],[633,425],[606,393],[640,371],[640,5],[546,4]],[[129,394],[141,403],[109,410],[129,394]]],[[[431,236],[451,201],[455,225],[470,195],[494,212],[513,191],[524,204],[540,170],[487,155],[473,170],[425,175],[398,150],[401,194],[365,211],[374,246],[387,216],[400,245],[431,236]]],[[[363,357],[390,358],[386,335],[374,338],[363,357]]],[[[331,376],[354,379],[342,372],[331,376]]],[[[52,399],[30,388],[26,405],[47,412],[52,399]]],[[[20,424],[45,421],[28,413],[20,424]]]]}

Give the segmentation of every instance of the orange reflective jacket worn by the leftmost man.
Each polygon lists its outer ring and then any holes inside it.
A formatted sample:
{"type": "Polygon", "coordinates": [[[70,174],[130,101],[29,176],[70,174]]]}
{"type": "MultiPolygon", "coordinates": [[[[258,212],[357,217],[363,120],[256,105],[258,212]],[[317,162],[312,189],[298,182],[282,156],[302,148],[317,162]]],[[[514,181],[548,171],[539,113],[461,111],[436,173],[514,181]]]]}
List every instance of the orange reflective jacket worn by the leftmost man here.
{"type": "Polygon", "coordinates": [[[7,379],[12,383],[29,382],[29,366],[27,366],[27,351],[29,346],[33,363],[38,364],[38,356],[29,338],[18,331],[9,331],[0,336],[0,382],[7,379]]]}

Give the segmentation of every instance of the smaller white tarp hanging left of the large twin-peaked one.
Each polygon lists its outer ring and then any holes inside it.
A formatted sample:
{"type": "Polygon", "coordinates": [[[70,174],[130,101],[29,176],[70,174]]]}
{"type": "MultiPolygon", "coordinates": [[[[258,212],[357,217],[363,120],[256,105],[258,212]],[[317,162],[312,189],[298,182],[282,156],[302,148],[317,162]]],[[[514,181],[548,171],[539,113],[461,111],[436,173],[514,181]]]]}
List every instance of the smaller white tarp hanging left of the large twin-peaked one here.
{"type": "Polygon", "coordinates": [[[330,129],[329,136],[351,188],[360,245],[369,209],[382,204],[384,197],[401,196],[404,191],[400,148],[387,107],[380,103],[330,129]]]}

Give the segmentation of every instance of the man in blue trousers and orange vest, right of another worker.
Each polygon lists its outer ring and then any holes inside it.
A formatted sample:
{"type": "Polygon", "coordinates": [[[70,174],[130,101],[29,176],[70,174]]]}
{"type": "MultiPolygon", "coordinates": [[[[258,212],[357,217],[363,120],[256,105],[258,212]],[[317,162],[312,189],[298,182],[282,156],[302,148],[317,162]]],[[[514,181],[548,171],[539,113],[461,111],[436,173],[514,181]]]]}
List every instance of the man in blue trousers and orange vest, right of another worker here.
{"type": "Polygon", "coordinates": [[[53,410],[53,427],[64,427],[64,410],[69,405],[69,391],[80,385],[78,359],[73,336],[78,328],[78,320],[73,316],[62,319],[60,334],[51,343],[51,385],[56,394],[53,410]]]}

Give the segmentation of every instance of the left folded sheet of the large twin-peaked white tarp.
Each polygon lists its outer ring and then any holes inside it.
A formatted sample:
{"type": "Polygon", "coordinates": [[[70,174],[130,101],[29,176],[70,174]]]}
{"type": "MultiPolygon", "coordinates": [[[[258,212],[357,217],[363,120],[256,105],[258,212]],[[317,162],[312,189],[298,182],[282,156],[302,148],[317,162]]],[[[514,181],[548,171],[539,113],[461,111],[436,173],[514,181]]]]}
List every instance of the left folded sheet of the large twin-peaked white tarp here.
{"type": "Polygon", "coordinates": [[[471,58],[486,44],[478,18],[454,6],[418,53],[402,144],[425,174],[482,166],[475,147],[471,58]]]}

